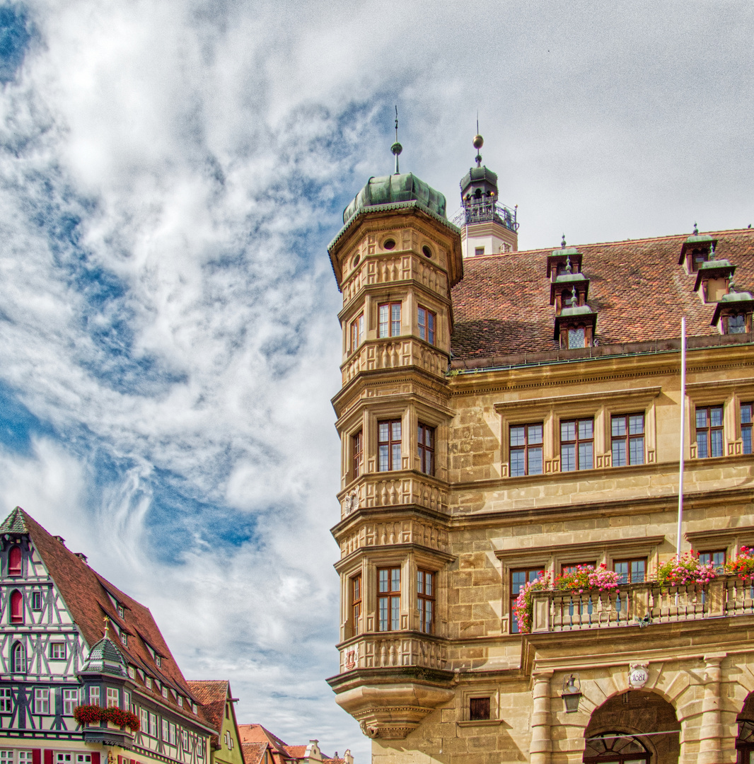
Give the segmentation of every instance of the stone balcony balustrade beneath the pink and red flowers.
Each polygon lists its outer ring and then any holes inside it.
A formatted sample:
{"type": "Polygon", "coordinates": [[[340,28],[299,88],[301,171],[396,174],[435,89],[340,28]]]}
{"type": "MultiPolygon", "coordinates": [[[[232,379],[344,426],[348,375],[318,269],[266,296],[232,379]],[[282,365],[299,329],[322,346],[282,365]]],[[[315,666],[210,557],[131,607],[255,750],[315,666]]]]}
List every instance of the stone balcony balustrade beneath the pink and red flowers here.
{"type": "Polygon", "coordinates": [[[618,592],[536,591],[532,633],[614,629],[704,618],[754,615],[754,585],[737,576],[709,584],[626,584],[618,592]]]}

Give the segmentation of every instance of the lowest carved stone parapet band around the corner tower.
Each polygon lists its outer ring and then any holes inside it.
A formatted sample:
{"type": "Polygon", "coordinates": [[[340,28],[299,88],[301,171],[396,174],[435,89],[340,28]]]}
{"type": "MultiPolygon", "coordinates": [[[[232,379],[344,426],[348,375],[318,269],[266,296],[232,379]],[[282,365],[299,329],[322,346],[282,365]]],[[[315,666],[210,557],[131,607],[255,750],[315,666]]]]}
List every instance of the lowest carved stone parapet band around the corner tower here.
{"type": "Polygon", "coordinates": [[[445,669],[448,646],[443,639],[419,632],[366,633],[338,646],[340,673],[354,669],[391,669],[419,666],[445,669]]]}

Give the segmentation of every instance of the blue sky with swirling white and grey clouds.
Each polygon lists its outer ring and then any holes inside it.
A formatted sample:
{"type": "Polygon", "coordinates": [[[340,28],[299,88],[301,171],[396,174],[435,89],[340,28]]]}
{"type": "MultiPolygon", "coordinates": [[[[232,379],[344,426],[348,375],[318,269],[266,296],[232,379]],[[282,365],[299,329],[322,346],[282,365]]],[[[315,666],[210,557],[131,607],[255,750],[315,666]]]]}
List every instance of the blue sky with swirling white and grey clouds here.
{"type": "Polygon", "coordinates": [[[0,4],[0,513],[147,604],[239,720],[364,764],[325,683],[326,248],[394,106],[451,214],[478,112],[522,249],[745,228],[752,38],[750,0],[0,4]]]}

